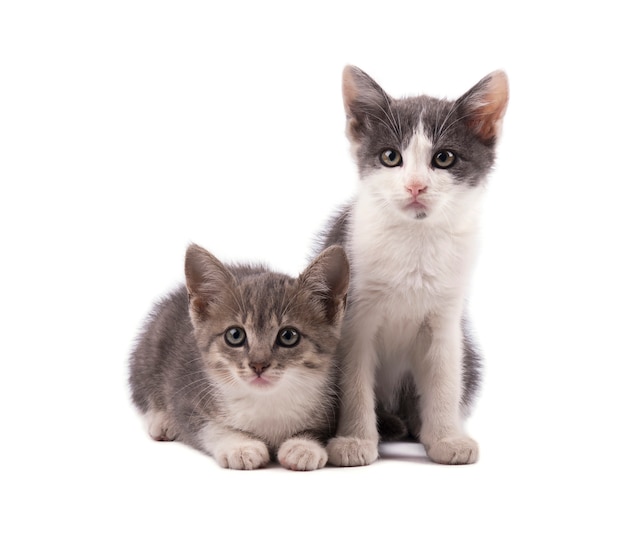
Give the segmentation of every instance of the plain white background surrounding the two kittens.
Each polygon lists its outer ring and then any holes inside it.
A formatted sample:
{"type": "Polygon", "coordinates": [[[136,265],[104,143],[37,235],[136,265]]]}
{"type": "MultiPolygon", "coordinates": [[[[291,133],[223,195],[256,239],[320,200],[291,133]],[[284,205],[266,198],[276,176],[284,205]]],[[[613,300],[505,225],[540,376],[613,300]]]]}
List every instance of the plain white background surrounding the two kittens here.
{"type": "Polygon", "coordinates": [[[624,532],[615,2],[3,2],[0,530],[624,532]],[[341,70],[511,100],[472,287],[477,465],[232,472],[152,442],[127,358],[195,241],[291,274],[356,186],[341,70]]]}

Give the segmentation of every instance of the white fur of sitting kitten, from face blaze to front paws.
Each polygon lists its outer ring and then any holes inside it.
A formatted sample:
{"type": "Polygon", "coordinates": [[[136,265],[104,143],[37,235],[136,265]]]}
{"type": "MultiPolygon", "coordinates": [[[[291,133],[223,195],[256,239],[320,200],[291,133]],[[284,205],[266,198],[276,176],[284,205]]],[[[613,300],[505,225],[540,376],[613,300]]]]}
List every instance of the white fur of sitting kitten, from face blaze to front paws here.
{"type": "Polygon", "coordinates": [[[403,165],[363,176],[349,232],[351,296],[342,334],[343,407],[337,465],[377,457],[374,394],[394,402],[398,379],[414,374],[421,396],[421,441],[442,463],[475,461],[478,449],[461,421],[461,316],[476,248],[482,187],[455,183],[430,167],[432,146],[418,130],[403,165]],[[407,207],[409,186],[426,186],[407,207]]]}

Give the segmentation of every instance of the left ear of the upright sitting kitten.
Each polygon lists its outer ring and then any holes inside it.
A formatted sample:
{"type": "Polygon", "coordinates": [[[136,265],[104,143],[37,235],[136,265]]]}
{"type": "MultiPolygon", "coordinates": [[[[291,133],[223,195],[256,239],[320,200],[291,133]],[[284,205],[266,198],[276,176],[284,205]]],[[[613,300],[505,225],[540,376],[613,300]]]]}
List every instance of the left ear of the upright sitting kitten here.
{"type": "Polygon", "coordinates": [[[384,115],[390,97],[365,72],[352,65],[343,69],[343,106],[346,110],[346,134],[357,142],[372,116],[384,115]]]}

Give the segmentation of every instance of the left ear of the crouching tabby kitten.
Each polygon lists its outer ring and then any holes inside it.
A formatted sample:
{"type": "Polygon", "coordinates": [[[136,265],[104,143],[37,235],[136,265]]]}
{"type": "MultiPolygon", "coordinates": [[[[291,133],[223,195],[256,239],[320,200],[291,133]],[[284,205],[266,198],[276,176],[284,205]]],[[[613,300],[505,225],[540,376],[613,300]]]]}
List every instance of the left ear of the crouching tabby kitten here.
{"type": "Polygon", "coordinates": [[[225,289],[234,283],[233,275],[213,254],[198,245],[189,245],[185,255],[185,278],[189,310],[198,320],[208,318],[210,309],[219,304],[225,289]]]}

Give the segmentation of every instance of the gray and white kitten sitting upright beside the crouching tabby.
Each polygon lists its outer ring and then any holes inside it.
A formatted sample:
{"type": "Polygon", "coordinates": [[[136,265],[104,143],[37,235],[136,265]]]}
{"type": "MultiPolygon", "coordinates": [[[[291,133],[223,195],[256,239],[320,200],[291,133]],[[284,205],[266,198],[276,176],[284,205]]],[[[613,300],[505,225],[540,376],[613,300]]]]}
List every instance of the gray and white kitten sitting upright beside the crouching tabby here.
{"type": "Polygon", "coordinates": [[[359,170],[356,199],[324,246],[350,259],[339,352],[342,403],[335,465],[378,457],[381,432],[408,432],[443,464],[478,459],[463,418],[480,358],[464,321],[479,202],[508,102],[497,71],[456,101],[394,99],[363,71],[343,73],[346,133],[359,170]]]}

